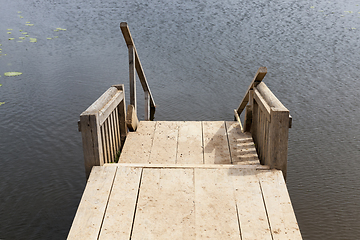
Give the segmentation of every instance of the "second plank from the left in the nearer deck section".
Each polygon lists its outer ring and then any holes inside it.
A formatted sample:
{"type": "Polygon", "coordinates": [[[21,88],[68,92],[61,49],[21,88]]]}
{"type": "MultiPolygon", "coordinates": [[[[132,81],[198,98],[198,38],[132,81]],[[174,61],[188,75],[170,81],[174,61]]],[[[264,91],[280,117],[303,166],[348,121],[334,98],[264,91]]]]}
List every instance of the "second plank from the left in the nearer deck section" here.
{"type": "Polygon", "coordinates": [[[141,172],[141,168],[118,167],[100,240],[130,239],[141,172]]]}

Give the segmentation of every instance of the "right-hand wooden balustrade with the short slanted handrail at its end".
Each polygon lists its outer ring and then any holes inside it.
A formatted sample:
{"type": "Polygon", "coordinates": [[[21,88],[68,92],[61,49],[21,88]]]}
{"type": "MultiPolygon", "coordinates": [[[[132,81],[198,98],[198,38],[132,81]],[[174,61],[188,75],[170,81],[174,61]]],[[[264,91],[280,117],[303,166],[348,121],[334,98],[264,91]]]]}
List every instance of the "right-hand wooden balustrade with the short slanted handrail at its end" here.
{"type": "Polygon", "coordinates": [[[262,82],[267,73],[259,68],[235,116],[245,109],[244,131],[251,132],[260,163],[282,170],[286,179],[288,132],[292,118],[289,110],[262,82]]]}

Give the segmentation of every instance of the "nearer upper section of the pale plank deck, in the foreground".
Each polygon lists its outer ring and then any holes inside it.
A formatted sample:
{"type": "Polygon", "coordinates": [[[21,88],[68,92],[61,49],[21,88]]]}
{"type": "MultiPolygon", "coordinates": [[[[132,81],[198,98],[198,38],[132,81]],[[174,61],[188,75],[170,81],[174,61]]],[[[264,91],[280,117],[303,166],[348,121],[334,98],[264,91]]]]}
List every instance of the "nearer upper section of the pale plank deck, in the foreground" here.
{"type": "Polygon", "coordinates": [[[95,167],[68,236],[208,238],[301,239],[281,171],[95,167]]]}

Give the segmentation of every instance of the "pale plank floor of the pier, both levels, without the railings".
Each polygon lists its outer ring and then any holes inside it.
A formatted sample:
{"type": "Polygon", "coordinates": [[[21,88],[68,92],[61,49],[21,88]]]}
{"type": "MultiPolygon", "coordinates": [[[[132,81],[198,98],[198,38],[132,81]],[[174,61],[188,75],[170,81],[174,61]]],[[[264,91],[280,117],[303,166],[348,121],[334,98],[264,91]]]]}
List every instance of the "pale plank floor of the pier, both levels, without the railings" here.
{"type": "Polygon", "coordinates": [[[301,239],[283,174],[237,122],[143,121],[94,166],[68,239],[301,239]]]}

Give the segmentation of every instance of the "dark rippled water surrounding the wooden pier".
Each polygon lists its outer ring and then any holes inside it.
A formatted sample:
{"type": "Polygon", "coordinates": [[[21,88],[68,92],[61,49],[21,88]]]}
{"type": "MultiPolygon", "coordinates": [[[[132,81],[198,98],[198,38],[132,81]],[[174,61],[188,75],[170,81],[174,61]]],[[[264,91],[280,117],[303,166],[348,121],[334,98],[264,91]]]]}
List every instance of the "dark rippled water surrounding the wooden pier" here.
{"type": "Polygon", "coordinates": [[[232,120],[266,66],[293,116],[287,185],[304,239],[360,238],[359,12],[356,1],[0,0],[0,239],[66,238],[85,186],[79,114],[112,84],[128,93],[121,21],[155,120],[232,120]]]}

